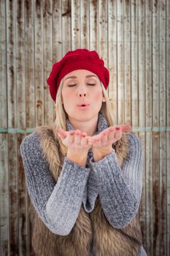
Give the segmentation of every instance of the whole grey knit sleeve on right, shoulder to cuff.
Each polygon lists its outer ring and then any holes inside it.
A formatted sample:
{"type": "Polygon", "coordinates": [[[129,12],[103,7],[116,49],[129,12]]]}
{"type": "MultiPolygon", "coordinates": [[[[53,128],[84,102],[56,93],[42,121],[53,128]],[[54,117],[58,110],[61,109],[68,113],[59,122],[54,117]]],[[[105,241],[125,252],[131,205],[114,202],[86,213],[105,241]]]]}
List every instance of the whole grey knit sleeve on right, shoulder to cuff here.
{"type": "Polygon", "coordinates": [[[136,135],[128,136],[128,157],[122,168],[114,151],[98,162],[90,159],[96,176],[101,207],[109,223],[122,228],[136,215],[142,193],[142,145],[136,135]]]}

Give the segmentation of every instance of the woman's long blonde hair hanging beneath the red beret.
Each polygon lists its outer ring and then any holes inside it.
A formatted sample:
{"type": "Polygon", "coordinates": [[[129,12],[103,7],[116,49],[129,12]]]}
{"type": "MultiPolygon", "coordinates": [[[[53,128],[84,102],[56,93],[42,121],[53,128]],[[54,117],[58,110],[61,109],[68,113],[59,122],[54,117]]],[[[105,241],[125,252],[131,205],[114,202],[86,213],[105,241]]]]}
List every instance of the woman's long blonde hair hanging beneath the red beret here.
{"type": "MultiPolygon", "coordinates": [[[[56,131],[55,138],[58,138],[58,141],[59,141],[59,144],[61,147],[61,152],[63,155],[66,155],[66,146],[63,145],[63,143],[61,142],[61,138],[59,138],[57,135],[58,128],[62,128],[64,130],[66,130],[67,113],[64,110],[63,104],[62,104],[62,96],[61,96],[62,88],[63,88],[63,79],[61,80],[61,83],[58,87],[58,92],[57,92],[56,99],[55,99],[55,114],[56,114],[56,116],[55,116],[55,121],[53,123],[53,129],[56,131]]],[[[106,118],[108,126],[111,126],[111,125],[114,125],[112,104],[111,104],[111,101],[107,94],[107,91],[104,88],[103,83],[101,83],[101,88],[102,88],[104,97],[106,99],[106,102],[102,102],[100,112],[106,118]]]]}

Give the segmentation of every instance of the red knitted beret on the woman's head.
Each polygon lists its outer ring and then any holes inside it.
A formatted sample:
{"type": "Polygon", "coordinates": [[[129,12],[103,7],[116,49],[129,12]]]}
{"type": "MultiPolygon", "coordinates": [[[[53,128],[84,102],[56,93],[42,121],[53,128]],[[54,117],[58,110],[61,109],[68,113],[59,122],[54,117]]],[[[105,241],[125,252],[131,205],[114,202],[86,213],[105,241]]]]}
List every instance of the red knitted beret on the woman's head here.
{"type": "Polygon", "coordinates": [[[47,84],[50,88],[50,94],[55,102],[58,87],[61,79],[77,69],[87,69],[95,73],[107,89],[109,85],[109,70],[104,67],[104,61],[99,58],[95,50],[77,49],[70,50],[60,61],[53,64],[47,84]]]}

